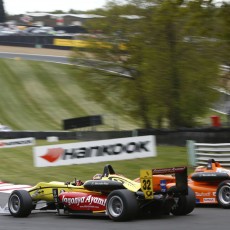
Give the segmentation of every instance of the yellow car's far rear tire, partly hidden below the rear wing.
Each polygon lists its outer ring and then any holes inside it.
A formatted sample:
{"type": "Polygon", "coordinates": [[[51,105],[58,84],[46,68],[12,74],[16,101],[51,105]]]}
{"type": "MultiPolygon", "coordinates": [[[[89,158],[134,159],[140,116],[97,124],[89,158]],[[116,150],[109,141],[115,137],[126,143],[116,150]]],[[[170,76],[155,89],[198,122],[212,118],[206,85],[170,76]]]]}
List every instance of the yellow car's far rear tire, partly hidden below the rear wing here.
{"type": "MultiPolygon", "coordinates": [[[[171,187],[169,191],[173,193],[173,190],[175,190],[175,187],[171,187]]],[[[196,196],[194,191],[191,188],[188,188],[188,195],[180,195],[178,197],[178,201],[176,204],[172,207],[170,212],[174,216],[183,216],[191,213],[196,205],[196,196]]]]}

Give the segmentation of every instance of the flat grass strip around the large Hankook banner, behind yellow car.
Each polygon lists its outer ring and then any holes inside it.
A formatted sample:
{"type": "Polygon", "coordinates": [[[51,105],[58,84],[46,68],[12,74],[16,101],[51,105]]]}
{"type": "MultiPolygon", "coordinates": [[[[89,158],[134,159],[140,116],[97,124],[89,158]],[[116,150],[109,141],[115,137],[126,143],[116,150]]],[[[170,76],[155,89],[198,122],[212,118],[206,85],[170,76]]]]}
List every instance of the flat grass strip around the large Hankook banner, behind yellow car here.
{"type": "MultiPolygon", "coordinates": [[[[37,141],[36,145],[48,144],[37,141]]],[[[74,178],[88,180],[94,174],[102,173],[108,163],[118,173],[134,179],[139,176],[140,169],[188,165],[186,147],[178,146],[157,146],[157,157],[55,167],[34,167],[32,149],[31,146],[0,149],[0,180],[30,185],[41,181],[72,181],[74,178]]]]}

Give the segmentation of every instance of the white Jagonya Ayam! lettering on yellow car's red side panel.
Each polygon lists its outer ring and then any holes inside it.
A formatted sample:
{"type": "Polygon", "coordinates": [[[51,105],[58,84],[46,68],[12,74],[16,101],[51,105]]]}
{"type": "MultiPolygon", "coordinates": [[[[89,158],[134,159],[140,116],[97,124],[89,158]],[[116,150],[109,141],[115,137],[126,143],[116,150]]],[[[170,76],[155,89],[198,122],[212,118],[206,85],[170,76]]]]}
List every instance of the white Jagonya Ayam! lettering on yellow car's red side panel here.
{"type": "Polygon", "coordinates": [[[106,199],[95,197],[92,195],[89,195],[87,197],[66,197],[65,195],[63,195],[62,203],[65,203],[69,206],[72,204],[77,205],[77,206],[79,206],[80,204],[89,205],[89,206],[98,204],[98,205],[105,206],[106,199]]]}

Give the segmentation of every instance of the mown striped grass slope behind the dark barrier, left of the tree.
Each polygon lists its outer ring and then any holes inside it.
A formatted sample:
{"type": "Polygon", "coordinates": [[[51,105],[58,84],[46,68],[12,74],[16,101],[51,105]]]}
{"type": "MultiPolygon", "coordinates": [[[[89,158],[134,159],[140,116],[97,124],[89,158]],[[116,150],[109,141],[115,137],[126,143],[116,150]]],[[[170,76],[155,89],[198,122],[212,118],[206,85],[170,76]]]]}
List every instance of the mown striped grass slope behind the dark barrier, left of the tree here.
{"type": "Polygon", "coordinates": [[[0,123],[13,130],[61,130],[63,119],[99,114],[97,130],[139,128],[121,111],[117,89],[102,85],[116,76],[26,60],[0,59],[0,68],[0,123]]]}

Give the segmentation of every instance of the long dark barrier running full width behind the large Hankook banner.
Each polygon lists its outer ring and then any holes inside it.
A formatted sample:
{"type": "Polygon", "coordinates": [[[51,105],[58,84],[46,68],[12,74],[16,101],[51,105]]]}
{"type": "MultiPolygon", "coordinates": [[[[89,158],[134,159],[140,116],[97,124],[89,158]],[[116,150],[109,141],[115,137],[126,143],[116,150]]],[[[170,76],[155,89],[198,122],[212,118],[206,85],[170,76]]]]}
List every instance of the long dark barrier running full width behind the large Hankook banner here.
{"type": "Polygon", "coordinates": [[[139,129],[124,131],[12,131],[0,132],[0,139],[34,137],[45,140],[55,136],[59,140],[103,140],[132,136],[156,136],[157,145],[186,146],[187,140],[197,143],[230,143],[230,128],[160,130],[139,129]]]}

